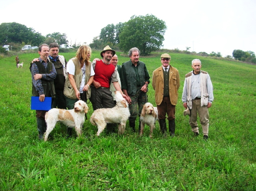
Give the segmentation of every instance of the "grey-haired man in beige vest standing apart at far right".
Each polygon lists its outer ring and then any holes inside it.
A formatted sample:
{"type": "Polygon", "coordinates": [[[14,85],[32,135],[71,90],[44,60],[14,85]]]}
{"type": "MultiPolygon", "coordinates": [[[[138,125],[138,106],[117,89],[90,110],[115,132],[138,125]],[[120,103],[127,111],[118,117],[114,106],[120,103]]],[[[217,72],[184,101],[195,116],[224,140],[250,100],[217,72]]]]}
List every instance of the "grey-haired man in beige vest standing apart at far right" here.
{"type": "Polygon", "coordinates": [[[202,125],[203,138],[208,140],[209,112],[213,101],[213,86],[210,75],[201,70],[201,61],[192,61],[193,71],[185,75],[186,79],[183,87],[182,102],[183,106],[190,110],[189,125],[195,136],[199,135],[197,125],[197,113],[202,125]]]}

